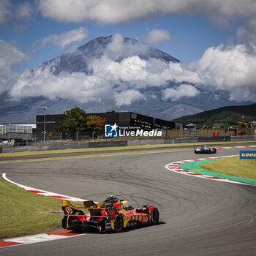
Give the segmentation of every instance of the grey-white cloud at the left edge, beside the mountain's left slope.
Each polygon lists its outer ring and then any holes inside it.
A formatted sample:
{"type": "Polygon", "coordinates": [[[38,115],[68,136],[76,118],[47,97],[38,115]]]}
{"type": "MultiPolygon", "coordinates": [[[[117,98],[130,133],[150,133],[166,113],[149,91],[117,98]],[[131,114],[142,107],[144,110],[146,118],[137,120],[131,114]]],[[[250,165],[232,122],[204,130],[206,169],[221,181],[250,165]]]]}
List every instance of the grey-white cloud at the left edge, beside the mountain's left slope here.
{"type": "Polygon", "coordinates": [[[24,59],[26,59],[26,55],[15,45],[0,39],[0,93],[7,90],[12,66],[24,59]]]}

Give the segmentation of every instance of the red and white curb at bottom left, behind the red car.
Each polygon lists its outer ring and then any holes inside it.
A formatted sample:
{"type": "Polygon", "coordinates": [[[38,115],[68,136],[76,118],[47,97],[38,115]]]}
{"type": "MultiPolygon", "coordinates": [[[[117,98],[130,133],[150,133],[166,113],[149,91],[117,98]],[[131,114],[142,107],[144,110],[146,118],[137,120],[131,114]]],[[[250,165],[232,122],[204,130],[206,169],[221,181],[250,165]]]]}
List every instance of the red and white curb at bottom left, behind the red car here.
{"type": "Polygon", "coordinates": [[[0,241],[0,248],[7,247],[7,246],[18,246],[22,244],[35,244],[45,241],[53,241],[57,239],[63,238],[70,238],[75,236],[84,236],[85,233],[73,233],[70,230],[63,230],[60,232],[53,232],[53,233],[42,233],[33,236],[21,236],[18,238],[9,238],[0,241]]]}

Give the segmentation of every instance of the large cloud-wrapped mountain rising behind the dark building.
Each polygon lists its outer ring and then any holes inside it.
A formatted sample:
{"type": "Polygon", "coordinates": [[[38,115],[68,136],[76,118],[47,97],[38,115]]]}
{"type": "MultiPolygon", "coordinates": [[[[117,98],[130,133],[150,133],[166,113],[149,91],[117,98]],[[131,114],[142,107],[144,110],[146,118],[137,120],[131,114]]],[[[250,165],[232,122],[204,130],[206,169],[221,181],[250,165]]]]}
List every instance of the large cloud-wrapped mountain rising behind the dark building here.
{"type": "Polygon", "coordinates": [[[0,95],[0,123],[34,122],[42,105],[47,114],[79,106],[167,120],[234,105],[224,91],[200,88],[182,72],[178,59],[137,39],[99,37],[10,82],[0,95]]]}

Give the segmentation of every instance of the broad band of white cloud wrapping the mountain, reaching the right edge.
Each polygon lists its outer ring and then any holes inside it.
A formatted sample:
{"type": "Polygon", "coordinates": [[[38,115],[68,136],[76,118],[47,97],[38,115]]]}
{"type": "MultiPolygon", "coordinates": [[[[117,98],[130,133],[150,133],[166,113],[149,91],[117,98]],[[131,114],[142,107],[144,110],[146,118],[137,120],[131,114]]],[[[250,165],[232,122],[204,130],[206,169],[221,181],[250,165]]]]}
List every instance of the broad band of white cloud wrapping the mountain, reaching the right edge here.
{"type": "MultiPolygon", "coordinates": [[[[208,48],[200,60],[190,64],[150,57],[152,48],[126,40],[121,34],[115,34],[104,47],[99,46],[99,52],[89,56],[78,49],[67,53],[84,59],[76,63],[86,63],[83,72],[61,69],[56,73],[62,57],[26,70],[8,89],[11,99],[44,96],[80,103],[113,100],[121,106],[149,100],[143,90],[158,87],[165,101],[197,97],[200,90],[226,91],[227,98],[236,102],[256,101],[256,56],[245,45],[208,48]]],[[[19,51],[16,53],[15,61],[24,58],[19,51]]]]}

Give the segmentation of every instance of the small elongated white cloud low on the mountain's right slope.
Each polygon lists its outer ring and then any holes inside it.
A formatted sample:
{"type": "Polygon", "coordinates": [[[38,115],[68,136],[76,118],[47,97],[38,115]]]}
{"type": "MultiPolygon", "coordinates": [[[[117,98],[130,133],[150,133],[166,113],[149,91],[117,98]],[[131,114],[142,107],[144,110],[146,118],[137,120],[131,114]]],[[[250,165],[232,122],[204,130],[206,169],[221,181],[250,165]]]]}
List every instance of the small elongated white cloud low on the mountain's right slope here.
{"type": "Polygon", "coordinates": [[[180,86],[177,86],[175,88],[167,88],[162,91],[162,98],[164,100],[171,99],[172,101],[176,101],[184,97],[196,97],[199,94],[200,91],[198,91],[195,86],[192,86],[190,84],[181,84],[180,86]]]}

